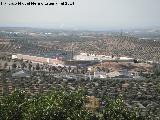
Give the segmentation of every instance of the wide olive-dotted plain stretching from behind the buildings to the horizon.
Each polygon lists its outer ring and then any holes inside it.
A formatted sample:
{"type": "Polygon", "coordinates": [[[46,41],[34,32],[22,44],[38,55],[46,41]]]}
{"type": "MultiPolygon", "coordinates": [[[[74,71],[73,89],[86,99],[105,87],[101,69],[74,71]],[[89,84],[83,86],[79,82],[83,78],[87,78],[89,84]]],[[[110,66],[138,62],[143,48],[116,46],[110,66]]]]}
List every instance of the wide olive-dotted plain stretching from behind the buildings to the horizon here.
{"type": "Polygon", "coordinates": [[[32,28],[0,28],[0,52],[45,53],[53,50],[73,50],[74,54],[87,52],[159,61],[160,37],[158,34],[156,34],[157,39],[152,36],[152,33],[156,33],[157,30],[160,29],[141,30],[137,34],[135,31],[130,31],[120,35],[120,33],[96,31],[56,32],[32,28]],[[18,32],[14,32],[14,29],[18,32]],[[46,34],[46,32],[51,32],[51,34],[46,34]],[[133,34],[130,35],[130,33],[133,34]],[[141,36],[138,37],[138,34],[141,36]],[[151,38],[141,39],[143,35],[151,38]]]}

